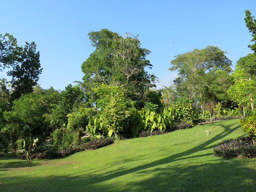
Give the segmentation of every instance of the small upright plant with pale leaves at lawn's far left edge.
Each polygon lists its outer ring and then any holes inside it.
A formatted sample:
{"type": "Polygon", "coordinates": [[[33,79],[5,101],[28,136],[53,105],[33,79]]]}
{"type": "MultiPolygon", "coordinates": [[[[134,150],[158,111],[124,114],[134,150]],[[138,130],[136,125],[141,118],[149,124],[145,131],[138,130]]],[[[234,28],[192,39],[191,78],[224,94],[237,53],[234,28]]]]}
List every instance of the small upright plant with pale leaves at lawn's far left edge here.
{"type": "Polygon", "coordinates": [[[31,137],[23,139],[23,152],[25,154],[26,160],[31,160],[31,155],[35,152],[37,148],[38,138],[33,139],[31,137]]]}

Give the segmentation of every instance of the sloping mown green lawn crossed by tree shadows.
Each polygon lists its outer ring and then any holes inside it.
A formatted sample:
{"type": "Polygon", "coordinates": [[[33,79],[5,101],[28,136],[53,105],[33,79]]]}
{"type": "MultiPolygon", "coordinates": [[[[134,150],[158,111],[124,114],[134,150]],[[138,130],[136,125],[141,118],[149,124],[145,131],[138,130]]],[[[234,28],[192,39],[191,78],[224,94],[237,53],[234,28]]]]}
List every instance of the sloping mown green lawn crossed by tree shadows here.
{"type": "Polygon", "coordinates": [[[0,191],[256,191],[255,159],[211,156],[217,142],[245,135],[238,121],[119,140],[62,159],[4,154],[0,191]]]}

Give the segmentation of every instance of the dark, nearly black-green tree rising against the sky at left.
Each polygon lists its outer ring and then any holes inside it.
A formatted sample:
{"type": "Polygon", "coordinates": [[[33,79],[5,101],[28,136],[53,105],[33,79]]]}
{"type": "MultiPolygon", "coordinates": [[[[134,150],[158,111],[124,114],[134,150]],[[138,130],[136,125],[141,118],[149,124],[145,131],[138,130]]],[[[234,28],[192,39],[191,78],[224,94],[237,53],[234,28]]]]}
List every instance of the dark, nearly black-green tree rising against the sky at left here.
{"type": "Polygon", "coordinates": [[[28,92],[32,92],[33,86],[39,79],[42,71],[40,68],[39,51],[35,50],[36,44],[26,42],[20,55],[20,63],[16,64],[7,75],[12,76],[11,86],[14,89],[11,95],[12,100],[28,92]]]}

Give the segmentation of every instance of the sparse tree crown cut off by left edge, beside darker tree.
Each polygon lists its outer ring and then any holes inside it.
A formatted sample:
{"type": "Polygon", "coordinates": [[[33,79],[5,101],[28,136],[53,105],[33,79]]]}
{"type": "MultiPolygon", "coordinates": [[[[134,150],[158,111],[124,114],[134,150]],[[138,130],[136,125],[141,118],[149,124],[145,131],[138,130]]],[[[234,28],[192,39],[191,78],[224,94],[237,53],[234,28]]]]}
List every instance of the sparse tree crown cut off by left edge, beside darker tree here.
{"type": "Polygon", "coordinates": [[[22,47],[17,45],[17,40],[11,34],[0,34],[0,71],[4,67],[14,66],[19,61],[22,47]]]}

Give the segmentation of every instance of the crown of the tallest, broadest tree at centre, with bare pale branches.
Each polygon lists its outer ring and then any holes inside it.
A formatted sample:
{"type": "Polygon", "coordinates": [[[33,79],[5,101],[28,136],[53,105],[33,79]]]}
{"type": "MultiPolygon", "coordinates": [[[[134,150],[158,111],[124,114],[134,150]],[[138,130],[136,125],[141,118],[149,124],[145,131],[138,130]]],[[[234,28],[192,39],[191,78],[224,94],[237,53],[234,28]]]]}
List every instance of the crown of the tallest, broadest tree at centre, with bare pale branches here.
{"type": "Polygon", "coordinates": [[[122,86],[126,89],[125,95],[137,100],[137,106],[141,107],[149,87],[154,86],[155,76],[145,71],[145,67],[152,66],[145,59],[150,51],[140,47],[138,35],[126,33],[122,37],[107,29],[92,31],[88,35],[95,50],[81,66],[87,97],[91,98],[92,87],[102,83],[122,86]]]}

